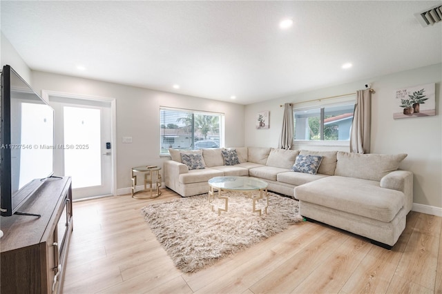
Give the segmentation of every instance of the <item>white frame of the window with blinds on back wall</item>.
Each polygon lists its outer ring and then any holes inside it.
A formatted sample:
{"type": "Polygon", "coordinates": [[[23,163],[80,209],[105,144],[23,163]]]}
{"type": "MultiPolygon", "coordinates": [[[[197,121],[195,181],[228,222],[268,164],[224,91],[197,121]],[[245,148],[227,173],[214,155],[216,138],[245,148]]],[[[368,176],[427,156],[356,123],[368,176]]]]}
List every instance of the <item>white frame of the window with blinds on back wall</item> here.
{"type": "MultiPolygon", "coordinates": [[[[183,115],[188,115],[188,114],[192,114],[192,115],[209,115],[209,116],[218,116],[219,117],[219,131],[218,131],[218,136],[219,136],[219,147],[222,148],[222,146],[224,146],[224,121],[225,121],[225,115],[223,112],[211,112],[211,111],[205,111],[205,110],[195,110],[195,109],[187,109],[187,108],[174,108],[174,107],[168,107],[168,106],[160,106],[160,157],[170,157],[170,153],[169,153],[169,148],[167,148],[166,151],[162,152],[162,150],[166,149],[163,148],[163,139],[164,139],[164,134],[162,132],[162,126],[163,126],[163,121],[162,121],[162,111],[175,111],[175,112],[182,112],[183,115]]],[[[195,124],[193,124],[193,126],[191,126],[191,146],[195,145],[195,142],[197,141],[201,141],[201,140],[195,140],[195,124]]],[[[209,140],[209,139],[207,139],[209,140]]],[[[180,150],[198,150],[198,148],[193,147],[193,149],[190,148],[180,148],[180,150]]]]}

